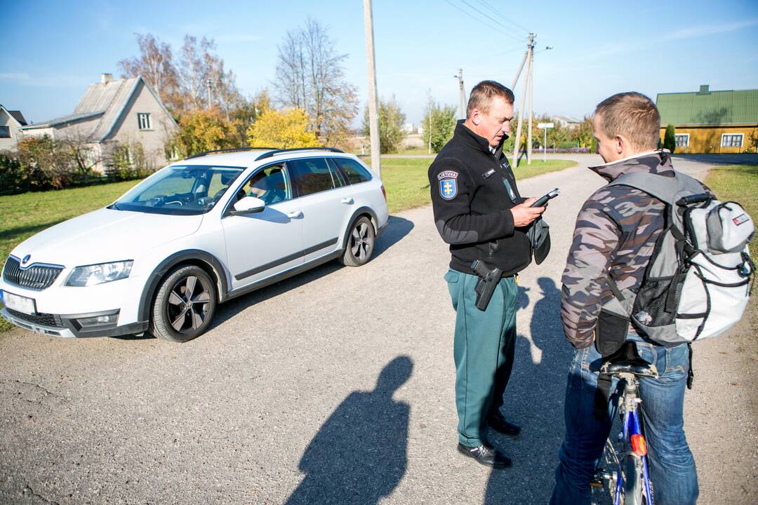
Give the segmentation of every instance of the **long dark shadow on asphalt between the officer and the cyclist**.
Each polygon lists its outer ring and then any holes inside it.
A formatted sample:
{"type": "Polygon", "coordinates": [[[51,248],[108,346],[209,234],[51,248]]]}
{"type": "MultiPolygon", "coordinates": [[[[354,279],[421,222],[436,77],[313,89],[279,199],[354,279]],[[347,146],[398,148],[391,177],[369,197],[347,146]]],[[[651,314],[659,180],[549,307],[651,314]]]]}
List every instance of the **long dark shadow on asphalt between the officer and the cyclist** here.
{"type": "Polygon", "coordinates": [[[549,277],[540,277],[537,284],[542,298],[534,304],[531,341],[517,336],[504,407],[522,432],[509,438],[490,430],[490,441],[513,459],[513,466],[490,473],[484,503],[548,503],[553,491],[564,430],[566,374],[573,354],[563,336],[559,289],[549,277]]]}

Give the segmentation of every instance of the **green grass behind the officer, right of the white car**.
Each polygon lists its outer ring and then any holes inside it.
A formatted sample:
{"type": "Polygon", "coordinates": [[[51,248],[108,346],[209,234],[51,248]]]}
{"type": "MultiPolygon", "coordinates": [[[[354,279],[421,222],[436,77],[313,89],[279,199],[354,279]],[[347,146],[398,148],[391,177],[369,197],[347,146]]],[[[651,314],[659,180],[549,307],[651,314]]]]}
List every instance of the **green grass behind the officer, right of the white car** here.
{"type": "MultiPolygon", "coordinates": [[[[362,158],[371,164],[371,158],[362,158]]],[[[431,203],[429,196],[429,179],[427,170],[433,160],[412,157],[383,157],[381,161],[381,179],[387,190],[387,207],[390,213],[421,207],[431,203]]],[[[516,180],[528,179],[542,173],[573,167],[575,161],[568,160],[532,160],[531,165],[524,161],[515,170],[516,180]]]]}

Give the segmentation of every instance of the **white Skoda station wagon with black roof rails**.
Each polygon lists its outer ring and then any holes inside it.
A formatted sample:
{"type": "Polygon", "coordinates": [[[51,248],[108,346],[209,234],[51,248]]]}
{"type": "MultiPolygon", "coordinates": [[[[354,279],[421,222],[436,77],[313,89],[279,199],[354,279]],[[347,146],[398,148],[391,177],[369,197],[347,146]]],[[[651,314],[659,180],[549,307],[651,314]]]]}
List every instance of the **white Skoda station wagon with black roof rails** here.
{"type": "Polygon", "coordinates": [[[2,315],[45,335],[188,341],[218,303],[329,260],[369,260],[387,197],[357,157],[232,151],[171,164],[22,242],[2,272],[2,315]]]}

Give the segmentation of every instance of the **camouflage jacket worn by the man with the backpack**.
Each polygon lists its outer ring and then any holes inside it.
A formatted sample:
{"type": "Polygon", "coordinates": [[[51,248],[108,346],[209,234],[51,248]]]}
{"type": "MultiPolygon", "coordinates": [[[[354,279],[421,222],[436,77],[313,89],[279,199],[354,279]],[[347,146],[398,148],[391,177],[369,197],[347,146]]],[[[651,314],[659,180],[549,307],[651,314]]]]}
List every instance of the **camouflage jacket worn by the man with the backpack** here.
{"type": "MultiPolygon", "coordinates": [[[[608,182],[632,172],[674,176],[667,151],[638,154],[590,170],[608,182]]],[[[561,293],[563,332],[575,348],[586,348],[594,339],[600,306],[612,297],[608,276],[621,290],[636,292],[640,287],[663,229],[665,207],[662,201],[624,185],[603,186],[584,202],[561,293]]]]}

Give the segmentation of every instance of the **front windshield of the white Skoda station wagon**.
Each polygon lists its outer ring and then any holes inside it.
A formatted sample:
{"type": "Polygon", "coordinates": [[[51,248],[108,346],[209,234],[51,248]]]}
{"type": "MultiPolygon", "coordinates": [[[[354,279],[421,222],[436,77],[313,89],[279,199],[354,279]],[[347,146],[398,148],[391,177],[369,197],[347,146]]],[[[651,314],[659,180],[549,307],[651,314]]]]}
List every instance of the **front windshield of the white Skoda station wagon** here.
{"type": "Polygon", "coordinates": [[[171,165],[136,185],[111,205],[152,214],[205,214],[221,200],[244,167],[171,165]]]}

